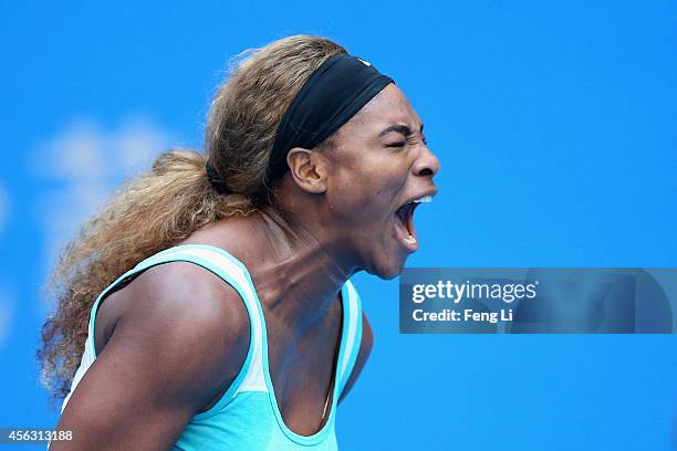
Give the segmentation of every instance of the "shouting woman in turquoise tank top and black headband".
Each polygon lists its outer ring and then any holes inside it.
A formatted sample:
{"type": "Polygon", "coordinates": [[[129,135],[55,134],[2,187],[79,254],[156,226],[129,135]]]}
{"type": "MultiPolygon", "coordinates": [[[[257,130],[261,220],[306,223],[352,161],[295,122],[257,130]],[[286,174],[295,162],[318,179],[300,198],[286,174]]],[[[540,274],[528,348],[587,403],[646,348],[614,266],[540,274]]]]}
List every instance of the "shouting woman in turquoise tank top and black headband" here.
{"type": "Polygon", "coordinates": [[[423,124],[368,62],[296,35],[232,71],[206,147],[162,155],[62,254],[39,355],[73,439],[52,450],[336,449],[373,342],[348,279],[418,247],[423,124]]]}

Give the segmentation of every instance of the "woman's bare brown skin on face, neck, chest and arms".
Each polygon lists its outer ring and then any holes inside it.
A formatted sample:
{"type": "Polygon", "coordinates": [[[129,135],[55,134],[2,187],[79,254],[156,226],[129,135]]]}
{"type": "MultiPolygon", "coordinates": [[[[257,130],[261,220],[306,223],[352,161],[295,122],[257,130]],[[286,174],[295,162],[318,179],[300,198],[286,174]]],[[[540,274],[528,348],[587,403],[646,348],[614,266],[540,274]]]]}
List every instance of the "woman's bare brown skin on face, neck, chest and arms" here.
{"type": "MultiPolygon", "coordinates": [[[[415,250],[403,242],[395,212],[436,193],[439,161],[421,132],[418,115],[390,84],[336,132],[335,148],[289,151],[290,170],[277,191],[280,212],[263,207],[178,243],[222,248],[249,270],[265,318],[280,411],[299,434],[324,423],[342,285],[358,271],[392,279],[415,250]],[[404,127],[383,134],[397,125],[404,127]]],[[[190,418],[230,386],[250,334],[238,293],[186,262],[150,268],[110,294],[95,332],[97,358],[58,424],[73,430],[75,440],[52,443],[52,451],[170,449],[190,418]]],[[[360,354],[342,399],[372,344],[363,316],[360,354]]]]}

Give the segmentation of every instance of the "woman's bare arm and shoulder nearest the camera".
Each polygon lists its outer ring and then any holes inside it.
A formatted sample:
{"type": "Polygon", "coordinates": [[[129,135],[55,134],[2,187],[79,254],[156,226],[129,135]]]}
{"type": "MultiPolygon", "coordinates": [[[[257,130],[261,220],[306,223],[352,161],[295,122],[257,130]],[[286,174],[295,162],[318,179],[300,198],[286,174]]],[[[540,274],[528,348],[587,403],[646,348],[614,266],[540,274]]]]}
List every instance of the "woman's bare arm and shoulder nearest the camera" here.
{"type": "Polygon", "coordinates": [[[133,296],[131,307],[59,421],[73,440],[54,442],[51,451],[168,450],[244,361],[247,311],[215,274],[165,263],[123,291],[133,296]]]}

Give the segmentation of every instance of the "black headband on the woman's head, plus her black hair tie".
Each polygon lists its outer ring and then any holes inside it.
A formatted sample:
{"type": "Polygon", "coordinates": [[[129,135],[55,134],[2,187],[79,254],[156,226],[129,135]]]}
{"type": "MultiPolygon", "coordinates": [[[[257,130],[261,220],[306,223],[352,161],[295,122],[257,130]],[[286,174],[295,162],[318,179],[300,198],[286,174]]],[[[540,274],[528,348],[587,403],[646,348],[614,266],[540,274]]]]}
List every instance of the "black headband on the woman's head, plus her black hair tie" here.
{"type": "MultiPolygon", "coordinates": [[[[393,78],[357,56],[342,53],[322,63],[305,81],[278,125],[265,180],[273,181],[287,172],[287,153],[291,148],[314,148],[390,83],[395,83],[393,78]]],[[[207,174],[219,193],[228,192],[210,161],[207,174]]]]}

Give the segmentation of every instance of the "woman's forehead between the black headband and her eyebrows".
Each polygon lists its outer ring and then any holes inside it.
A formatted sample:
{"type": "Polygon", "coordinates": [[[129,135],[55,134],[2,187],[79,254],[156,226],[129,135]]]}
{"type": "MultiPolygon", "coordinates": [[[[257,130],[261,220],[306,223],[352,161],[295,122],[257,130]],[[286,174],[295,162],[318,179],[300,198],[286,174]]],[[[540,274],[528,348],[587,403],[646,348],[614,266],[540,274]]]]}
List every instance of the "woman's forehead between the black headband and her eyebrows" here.
{"type": "Polygon", "coordinates": [[[420,118],[397,85],[390,83],[341,127],[341,133],[375,135],[395,124],[418,130],[420,118]]]}

